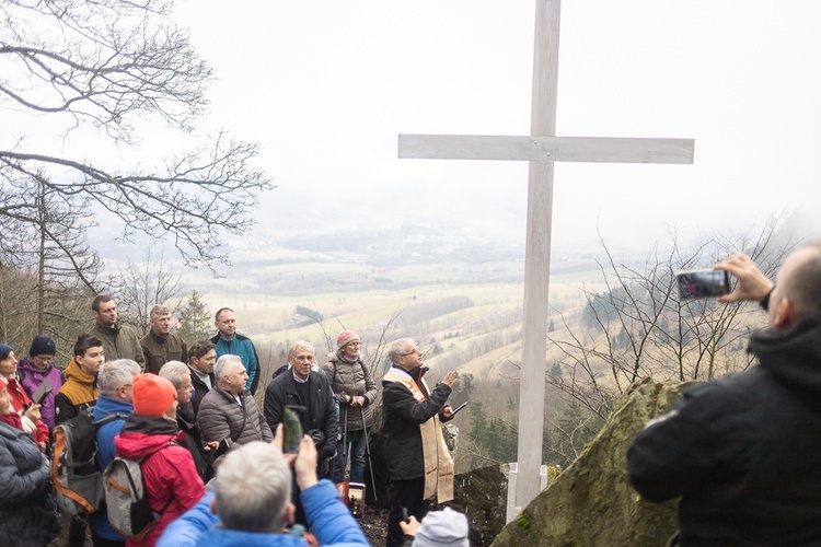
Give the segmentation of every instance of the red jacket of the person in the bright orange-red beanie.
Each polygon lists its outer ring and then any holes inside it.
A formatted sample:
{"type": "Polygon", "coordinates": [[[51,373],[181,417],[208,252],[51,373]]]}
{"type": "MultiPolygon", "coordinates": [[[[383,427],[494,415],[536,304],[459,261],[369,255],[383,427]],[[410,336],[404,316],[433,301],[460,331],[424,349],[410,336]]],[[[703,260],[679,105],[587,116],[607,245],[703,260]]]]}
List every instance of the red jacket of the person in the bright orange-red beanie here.
{"type": "Polygon", "coordinates": [[[205,485],[190,452],[175,443],[181,435],[184,433],[176,431],[175,422],[132,414],[114,438],[118,456],[144,458],[140,468],[151,510],[159,512],[167,505],[157,526],[142,542],[129,539],[127,546],[154,545],[165,526],[196,505],[205,494],[205,485]]]}

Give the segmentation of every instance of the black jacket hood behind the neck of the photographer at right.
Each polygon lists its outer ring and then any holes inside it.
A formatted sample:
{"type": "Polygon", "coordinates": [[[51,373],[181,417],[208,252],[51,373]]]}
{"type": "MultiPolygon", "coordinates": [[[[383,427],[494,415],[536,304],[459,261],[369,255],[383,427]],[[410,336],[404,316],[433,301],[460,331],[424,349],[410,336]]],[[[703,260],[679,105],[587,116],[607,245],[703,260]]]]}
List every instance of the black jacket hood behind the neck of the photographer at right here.
{"type": "Polygon", "coordinates": [[[821,395],[821,313],[787,330],[770,327],[754,331],[748,351],[790,388],[821,395]]]}

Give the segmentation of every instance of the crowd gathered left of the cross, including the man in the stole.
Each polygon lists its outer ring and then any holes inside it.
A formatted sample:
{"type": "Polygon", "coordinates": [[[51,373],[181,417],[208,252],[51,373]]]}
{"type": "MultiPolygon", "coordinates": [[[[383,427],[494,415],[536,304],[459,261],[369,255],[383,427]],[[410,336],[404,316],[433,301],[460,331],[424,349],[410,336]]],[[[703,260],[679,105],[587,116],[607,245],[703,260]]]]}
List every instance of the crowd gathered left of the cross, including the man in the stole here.
{"type": "MultiPolygon", "coordinates": [[[[54,489],[49,468],[65,462],[50,461],[51,444],[55,428],[77,420],[93,424],[101,477],[115,459],[137,463],[154,521],[129,534],[104,505],[69,512],[70,547],[84,545],[89,534],[94,546],[368,545],[334,486],[365,482],[377,401],[355,331],[339,333],[324,365],[310,342],[292,344],[261,409],[259,360],[231,309],[217,312],[217,335],[206,340],[173,333],[162,305],[151,310],[141,338],[118,321],[111,296],[96,296],[91,310],[94,324],[77,338],[65,368],[56,366],[48,336],[36,336],[20,360],[0,344],[0,545],[46,545],[60,533],[65,489],[54,489]],[[293,452],[284,451],[286,412],[302,433],[293,452]]],[[[456,375],[430,389],[423,352],[408,338],[395,341],[389,357],[388,457],[403,463],[390,467],[396,487],[388,545],[405,545],[423,520],[423,499],[453,497],[439,423],[451,417],[447,399],[456,375]]]]}

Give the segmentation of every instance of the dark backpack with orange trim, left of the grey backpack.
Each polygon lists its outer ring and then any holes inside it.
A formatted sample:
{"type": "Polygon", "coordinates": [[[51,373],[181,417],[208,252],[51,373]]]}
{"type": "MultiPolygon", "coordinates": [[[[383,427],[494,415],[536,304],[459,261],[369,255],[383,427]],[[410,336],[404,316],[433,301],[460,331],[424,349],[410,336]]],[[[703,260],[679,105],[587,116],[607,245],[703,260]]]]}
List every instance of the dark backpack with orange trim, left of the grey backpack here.
{"type": "Polygon", "coordinates": [[[57,505],[71,516],[100,511],[105,503],[103,475],[97,468],[97,428],[128,415],[112,412],[96,421],[86,412],[54,428],[54,447],[49,475],[57,493],[57,505]]]}

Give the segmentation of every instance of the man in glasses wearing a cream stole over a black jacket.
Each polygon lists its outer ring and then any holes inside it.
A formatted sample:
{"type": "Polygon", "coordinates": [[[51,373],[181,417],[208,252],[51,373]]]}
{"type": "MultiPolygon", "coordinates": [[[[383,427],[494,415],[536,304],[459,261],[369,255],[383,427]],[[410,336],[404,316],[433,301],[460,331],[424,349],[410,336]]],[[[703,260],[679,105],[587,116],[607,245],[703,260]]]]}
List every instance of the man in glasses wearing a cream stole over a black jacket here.
{"type": "Polygon", "coordinates": [[[382,379],[382,434],[388,475],[394,486],[388,515],[389,547],[403,545],[400,523],[405,516],[423,519],[424,500],[433,494],[438,503],[453,499],[453,458],[444,444],[441,421],[453,416],[446,401],[456,373],[448,372],[430,391],[423,379],[428,370],[423,366],[424,356],[413,339],[396,340],[388,351],[393,366],[382,379]]]}

